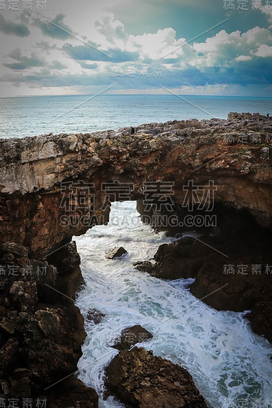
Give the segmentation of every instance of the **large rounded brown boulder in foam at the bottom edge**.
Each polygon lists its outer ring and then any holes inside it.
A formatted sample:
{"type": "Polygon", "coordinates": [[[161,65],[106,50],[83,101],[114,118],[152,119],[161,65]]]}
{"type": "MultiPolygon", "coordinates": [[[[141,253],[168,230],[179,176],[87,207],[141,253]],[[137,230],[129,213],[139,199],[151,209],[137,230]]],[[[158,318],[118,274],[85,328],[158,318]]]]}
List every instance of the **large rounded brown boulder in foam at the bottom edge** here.
{"type": "Polygon", "coordinates": [[[114,357],[106,368],[105,386],[135,408],[207,407],[188,371],[142,347],[114,357]]]}

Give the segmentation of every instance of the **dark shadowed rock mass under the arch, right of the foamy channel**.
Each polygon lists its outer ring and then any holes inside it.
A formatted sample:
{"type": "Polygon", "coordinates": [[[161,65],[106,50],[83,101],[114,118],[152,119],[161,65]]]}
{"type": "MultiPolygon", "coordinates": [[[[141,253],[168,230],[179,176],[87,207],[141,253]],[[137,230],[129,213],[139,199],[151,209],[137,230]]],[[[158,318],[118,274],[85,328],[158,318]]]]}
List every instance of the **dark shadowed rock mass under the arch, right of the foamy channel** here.
{"type": "Polygon", "coordinates": [[[190,291],[217,310],[247,315],[256,333],[271,341],[272,253],[270,230],[253,218],[224,210],[216,234],[185,236],[158,248],[151,262],[135,264],[163,279],[194,278],[190,291]]]}

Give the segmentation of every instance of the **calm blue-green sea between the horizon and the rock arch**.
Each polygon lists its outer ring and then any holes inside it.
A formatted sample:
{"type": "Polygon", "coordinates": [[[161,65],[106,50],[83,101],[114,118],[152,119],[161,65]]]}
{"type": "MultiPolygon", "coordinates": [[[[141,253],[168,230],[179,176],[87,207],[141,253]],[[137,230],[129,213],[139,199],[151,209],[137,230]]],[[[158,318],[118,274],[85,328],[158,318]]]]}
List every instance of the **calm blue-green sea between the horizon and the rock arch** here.
{"type": "Polygon", "coordinates": [[[167,120],[272,115],[272,98],[192,95],[67,95],[0,98],[0,138],[91,133],[167,120]]]}

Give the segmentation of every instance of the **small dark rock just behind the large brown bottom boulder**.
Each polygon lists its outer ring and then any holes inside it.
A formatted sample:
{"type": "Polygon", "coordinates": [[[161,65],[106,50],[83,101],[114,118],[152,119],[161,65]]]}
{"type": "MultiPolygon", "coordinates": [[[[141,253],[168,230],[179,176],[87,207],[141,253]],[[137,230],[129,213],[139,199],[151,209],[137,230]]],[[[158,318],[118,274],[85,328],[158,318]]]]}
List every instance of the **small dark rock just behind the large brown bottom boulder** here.
{"type": "Polygon", "coordinates": [[[148,339],[152,339],[153,335],[147,331],[144,327],[136,324],[135,326],[126,327],[121,331],[119,338],[115,340],[113,348],[117,350],[129,350],[131,346],[136,343],[141,343],[148,339]]]}

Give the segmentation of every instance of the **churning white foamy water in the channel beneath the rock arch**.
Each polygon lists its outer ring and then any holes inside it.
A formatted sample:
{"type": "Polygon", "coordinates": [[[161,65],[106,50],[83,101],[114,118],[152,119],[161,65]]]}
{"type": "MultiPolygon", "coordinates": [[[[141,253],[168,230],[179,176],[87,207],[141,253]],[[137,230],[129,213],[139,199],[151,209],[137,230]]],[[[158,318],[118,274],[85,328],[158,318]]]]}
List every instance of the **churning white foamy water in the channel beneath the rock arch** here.
{"type": "Polygon", "coordinates": [[[79,378],[95,388],[101,408],[124,407],[113,397],[103,400],[104,370],[118,352],[110,347],[114,339],[135,324],[154,336],[141,345],[186,368],[208,406],[254,408],[258,399],[263,408],[269,400],[272,406],[272,347],[253,333],[244,313],[208,307],[190,293],[192,279],[165,281],[135,269],[134,262],[151,259],[159,245],[175,241],[142,224],[135,202],[112,203],[108,225],[74,239],[86,282],[76,304],[84,317],[92,308],[106,315],[99,324],[85,319],[78,364],[79,378]],[[106,259],[105,251],[114,246],[128,253],[106,259]]]}

